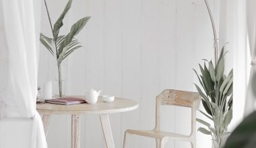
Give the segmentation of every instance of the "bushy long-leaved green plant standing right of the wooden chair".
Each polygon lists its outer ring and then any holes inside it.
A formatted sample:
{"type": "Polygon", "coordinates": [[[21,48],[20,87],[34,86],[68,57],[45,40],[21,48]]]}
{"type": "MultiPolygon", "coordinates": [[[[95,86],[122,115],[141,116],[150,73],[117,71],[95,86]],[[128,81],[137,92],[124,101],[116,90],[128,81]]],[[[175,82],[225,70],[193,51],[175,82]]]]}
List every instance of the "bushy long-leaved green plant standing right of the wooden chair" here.
{"type": "Polygon", "coordinates": [[[220,148],[226,139],[228,124],[232,120],[233,72],[231,70],[227,76],[224,75],[224,48],[220,52],[220,57],[215,67],[212,61],[207,61],[207,63],[208,67],[205,63],[203,67],[199,64],[201,75],[198,75],[195,69],[193,70],[202,87],[201,89],[195,84],[206,111],[206,113],[201,110],[199,112],[209,118],[214,126],[197,118],[197,122],[207,127],[200,127],[198,131],[205,135],[211,135],[213,147],[220,148]]]}

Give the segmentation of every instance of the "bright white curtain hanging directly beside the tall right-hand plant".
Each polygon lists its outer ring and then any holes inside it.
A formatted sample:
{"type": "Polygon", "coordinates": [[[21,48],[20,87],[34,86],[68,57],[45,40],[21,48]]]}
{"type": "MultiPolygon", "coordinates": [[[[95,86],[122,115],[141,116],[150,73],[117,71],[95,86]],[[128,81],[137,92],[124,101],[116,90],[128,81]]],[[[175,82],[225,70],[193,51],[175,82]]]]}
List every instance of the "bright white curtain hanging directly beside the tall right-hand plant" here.
{"type": "MultiPolygon", "coordinates": [[[[230,130],[243,120],[245,110],[245,98],[247,93],[249,77],[249,61],[247,57],[247,22],[246,22],[246,1],[227,1],[227,6],[232,11],[227,28],[232,28],[227,36],[230,36],[230,50],[233,50],[234,80],[233,80],[233,116],[230,130]]],[[[227,20],[228,21],[228,20],[227,20]]]]}

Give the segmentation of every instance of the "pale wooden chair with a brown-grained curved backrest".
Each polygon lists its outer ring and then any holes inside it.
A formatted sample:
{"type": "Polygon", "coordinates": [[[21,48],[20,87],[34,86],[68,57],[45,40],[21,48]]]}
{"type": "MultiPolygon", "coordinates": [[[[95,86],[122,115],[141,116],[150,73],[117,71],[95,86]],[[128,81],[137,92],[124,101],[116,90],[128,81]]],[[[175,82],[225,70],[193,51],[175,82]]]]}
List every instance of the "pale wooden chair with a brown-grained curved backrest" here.
{"type": "Polygon", "coordinates": [[[162,91],[156,97],[156,126],[154,130],[151,131],[141,131],[141,130],[131,130],[128,129],[125,131],[123,148],[125,148],[125,144],[127,141],[128,135],[140,135],[144,137],[151,137],[156,139],[156,147],[163,148],[165,143],[172,140],[179,141],[189,141],[191,143],[191,147],[196,147],[196,127],[195,127],[195,110],[199,108],[200,104],[200,96],[198,93],[189,92],[189,91],[179,91],[173,89],[166,89],[162,91]],[[177,133],[168,133],[165,131],[160,131],[160,106],[183,106],[191,108],[191,133],[190,135],[181,135],[177,133]]]}

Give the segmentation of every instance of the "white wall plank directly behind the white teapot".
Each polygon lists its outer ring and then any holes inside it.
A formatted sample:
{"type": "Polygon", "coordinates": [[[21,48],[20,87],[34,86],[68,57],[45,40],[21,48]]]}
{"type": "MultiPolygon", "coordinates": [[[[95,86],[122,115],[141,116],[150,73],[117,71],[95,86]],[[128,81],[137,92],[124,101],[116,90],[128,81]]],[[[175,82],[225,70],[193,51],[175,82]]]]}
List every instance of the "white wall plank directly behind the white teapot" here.
{"type": "MultiPolygon", "coordinates": [[[[82,9],[88,11],[91,16],[90,21],[86,24],[86,44],[85,57],[82,69],[86,70],[83,75],[83,89],[102,89],[104,91],[104,45],[103,45],[103,26],[104,26],[104,0],[88,0],[79,1],[79,5],[83,4],[82,9]]],[[[100,94],[101,95],[101,94],[100,94]]],[[[100,119],[95,115],[84,116],[85,124],[82,124],[81,147],[103,147],[104,140],[100,126],[100,119]],[[95,134],[91,134],[95,133],[95,134]],[[102,142],[95,142],[102,141],[102,142]]]]}

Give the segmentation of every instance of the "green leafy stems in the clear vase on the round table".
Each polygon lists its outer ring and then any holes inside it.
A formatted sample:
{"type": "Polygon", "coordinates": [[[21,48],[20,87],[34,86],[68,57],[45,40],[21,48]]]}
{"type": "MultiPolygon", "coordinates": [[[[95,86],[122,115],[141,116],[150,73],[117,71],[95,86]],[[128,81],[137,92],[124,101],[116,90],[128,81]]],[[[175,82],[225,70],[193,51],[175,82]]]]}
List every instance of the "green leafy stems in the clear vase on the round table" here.
{"type": "Polygon", "coordinates": [[[49,15],[49,10],[46,4],[46,0],[44,0],[44,4],[46,7],[47,15],[49,18],[49,23],[51,26],[51,32],[53,34],[53,38],[49,38],[44,36],[44,34],[40,34],[40,42],[46,47],[49,52],[53,55],[53,57],[57,60],[57,69],[58,69],[58,81],[59,81],[59,96],[63,96],[63,84],[61,77],[61,63],[62,61],[69,56],[74,50],[82,47],[77,39],[74,37],[86,26],[90,17],[83,17],[78,20],[71,26],[70,32],[67,35],[59,36],[59,30],[63,26],[63,19],[67,14],[67,11],[71,8],[72,0],[67,2],[65,9],[59,16],[59,19],[55,22],[54,26],[51,22],[51,17],[49,15]]]}

